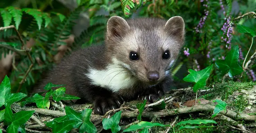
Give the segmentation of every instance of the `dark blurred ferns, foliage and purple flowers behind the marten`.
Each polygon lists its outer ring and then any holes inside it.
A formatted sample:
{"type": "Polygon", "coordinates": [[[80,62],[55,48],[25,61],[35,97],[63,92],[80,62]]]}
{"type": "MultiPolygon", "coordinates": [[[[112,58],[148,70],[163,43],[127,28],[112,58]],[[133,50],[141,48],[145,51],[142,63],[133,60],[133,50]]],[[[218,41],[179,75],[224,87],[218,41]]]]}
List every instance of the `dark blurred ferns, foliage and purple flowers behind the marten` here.
{"type": "MultiPolygon", "coordinates": [[[[0,81],[8,75],[13,92],[27,93],[42,75],[71,51],[90,45],[102,44],[107,20],[111,16],[123,18],[158,17],[169,19],[181,16],[185,20],[186,41],[177,65],[173,69],[172,88],[184,88],[190,83],[182,79],[188,69],[202,70],[225,57],[230,47],[239,45],[239,64],[243,63],[250,47],[251,37],[239,33],[236,24],[243,24],[256,30],[255,19],[233,20],[246,12],[256,11],[255,0],[1,0],[0,27],[4,27],[4,11],[12,13],[10,7],[22,9],[18,27],[31,61],[24,54],[22,44],[14,29],[0,31],[0,81]],[[80,3],[78,6],[77,2],[80,3]],[[24,10],[28,8],[28,10],[24,10]],[[34,9],[34,10],[33,10],[34,9]],[[38,27],[38,12],[47,13],[51,19],[42,20],[38,27]],[[227,22],[228,21],[228,22],[227,22]],[[228,32],[228,33],[227,33],[228,32]],[[228,34],[228,36],[227,36],[228,34]],[[226,38],[226,40],[225,40],[226,38]],[[230,41],[229,41],[230,40],[230,41]],[[13,52],[13,48],[18,49],[13,52]],[[20,53],[20,54],[19,54],[20,53]],[[21,54],[23,53],[23,54],[21,54]],[[28,71],[27,75],[26,72],[28,71]],[[24,79],[24,83],[21,82],[24,79]]],[[[14,13],[15,14],[15,13],[14,13]]],[[[16,25],[13,16],[10,25],[16,25]]],[[[255,46],[251,52],[254,53],[255,46]]],[[[216,67],[216,66],[214,66],[216,67]]],[[[255,66],[234,81],[255,81],[255,66]]],[[[208,83],[219,82],[224,74],[213,70],[208,83]]]]}

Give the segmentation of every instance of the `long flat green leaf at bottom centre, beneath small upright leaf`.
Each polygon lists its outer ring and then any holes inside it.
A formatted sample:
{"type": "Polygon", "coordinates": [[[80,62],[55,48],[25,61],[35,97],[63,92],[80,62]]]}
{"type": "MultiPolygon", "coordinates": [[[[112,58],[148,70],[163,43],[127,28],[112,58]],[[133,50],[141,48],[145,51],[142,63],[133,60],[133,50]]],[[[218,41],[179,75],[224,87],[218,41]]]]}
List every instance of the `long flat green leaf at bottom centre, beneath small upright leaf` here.
{"type": "Polygon", "coordinates": [[[161,124],[161,123],[151,123],[151,122],[141,121],[138,124],[131,125],[128,129],[124,130],[123,132],[136,131],[136,130],[142,129],[142,128],[150,129],[153,126],[170,126],[170,125],[164,125],[164,124],[161,124]]]}

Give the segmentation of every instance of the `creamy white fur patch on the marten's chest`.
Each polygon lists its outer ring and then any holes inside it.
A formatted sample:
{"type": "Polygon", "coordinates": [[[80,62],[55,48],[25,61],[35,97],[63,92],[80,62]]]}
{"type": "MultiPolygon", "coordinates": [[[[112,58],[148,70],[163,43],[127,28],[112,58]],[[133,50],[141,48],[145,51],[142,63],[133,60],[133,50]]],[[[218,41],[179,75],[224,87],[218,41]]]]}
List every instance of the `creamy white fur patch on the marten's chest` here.
{"type": "Polygon", "coordinates": [[[91,83],[111,89],[113,92],[117,92],[120,89],[132,87],[137,79],[132,78],[125,68],[121,68],[117,65],[109,65],[105,70],[90,69],[89,73],[86,73],[91,83]]]}

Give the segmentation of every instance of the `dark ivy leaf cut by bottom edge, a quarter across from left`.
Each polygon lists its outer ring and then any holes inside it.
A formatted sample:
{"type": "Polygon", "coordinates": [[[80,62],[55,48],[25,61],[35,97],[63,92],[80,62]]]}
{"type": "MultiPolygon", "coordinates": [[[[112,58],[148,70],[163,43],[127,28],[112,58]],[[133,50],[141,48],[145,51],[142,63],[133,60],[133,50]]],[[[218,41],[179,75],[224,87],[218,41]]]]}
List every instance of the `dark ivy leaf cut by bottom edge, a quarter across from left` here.
{"type": "Polygon", "coordinates": [[[52,125],[52,132],[53,133],[67,133],[74,128],[74,125],[77,121],[74,120],[66,120],[62,122],[55,122],[52,125]]]}

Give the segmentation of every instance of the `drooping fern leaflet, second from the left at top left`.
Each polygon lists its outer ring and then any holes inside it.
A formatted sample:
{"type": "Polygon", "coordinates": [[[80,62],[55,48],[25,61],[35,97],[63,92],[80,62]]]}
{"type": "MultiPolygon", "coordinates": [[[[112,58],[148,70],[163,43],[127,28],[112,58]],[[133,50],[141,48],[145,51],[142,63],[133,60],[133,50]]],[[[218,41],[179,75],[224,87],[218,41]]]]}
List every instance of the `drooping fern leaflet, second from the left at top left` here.
{"type": "Polygon", "coordinates": [[[21,17],[22,17],[22,11],[21,9],[17,8],[17,7],[7,7],[7,10],[11,13],[14,22],[15,22],[15,27],[18,30],[19,29],[19,25],[21,22],[21,17]]]}

